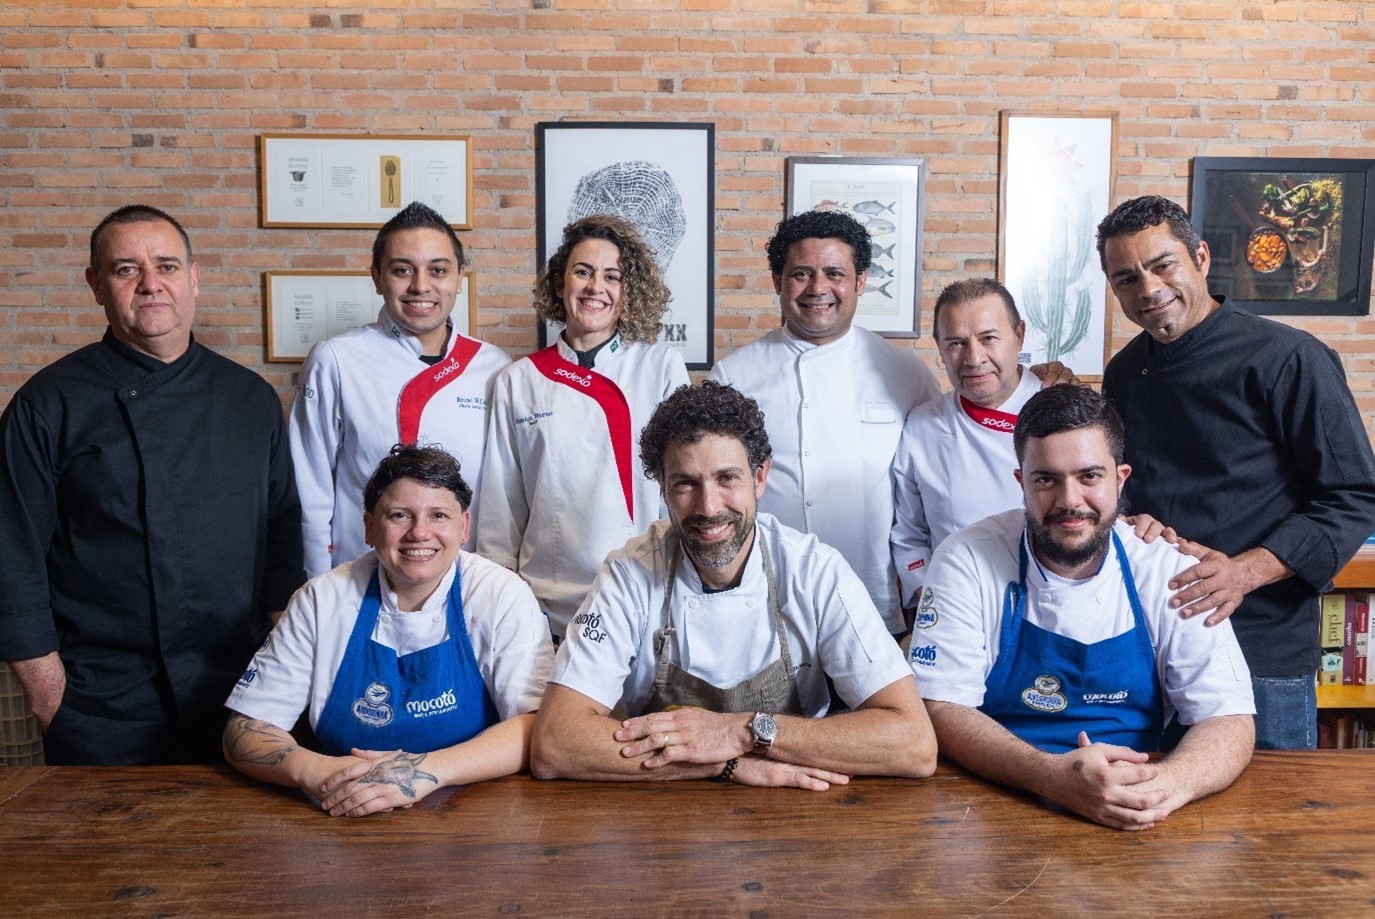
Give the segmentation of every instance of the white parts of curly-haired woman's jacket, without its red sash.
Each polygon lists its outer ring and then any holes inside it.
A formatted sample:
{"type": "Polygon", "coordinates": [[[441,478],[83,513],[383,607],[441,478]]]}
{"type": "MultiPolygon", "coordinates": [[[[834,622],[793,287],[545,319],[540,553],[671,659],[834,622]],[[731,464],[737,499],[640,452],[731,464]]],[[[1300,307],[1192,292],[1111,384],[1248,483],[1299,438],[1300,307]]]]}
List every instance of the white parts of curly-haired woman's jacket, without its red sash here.
{"type": "MultiPolygon", "coordinates": [[[[556,347],[578,363],[562,337],[556,347]]],[[[553,382],[529,358],[500,373],[492,392],[477,552],[525,579],[557,636],[606,554],[663,516],[659,484],[639,465],[639,432],[664,396],[688,382],[676,348],[619,337],[597,352],[593,369],[630,406],[634,520],[595,400],[553,382]]]]}

